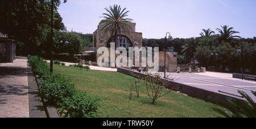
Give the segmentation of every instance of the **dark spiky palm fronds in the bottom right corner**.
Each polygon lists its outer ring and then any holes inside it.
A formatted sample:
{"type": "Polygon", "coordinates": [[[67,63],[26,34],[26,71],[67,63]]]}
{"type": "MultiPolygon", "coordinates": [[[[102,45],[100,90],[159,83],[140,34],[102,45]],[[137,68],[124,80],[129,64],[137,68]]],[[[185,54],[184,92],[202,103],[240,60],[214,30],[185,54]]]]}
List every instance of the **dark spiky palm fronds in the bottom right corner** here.
{"type": "MultiPolygon", "coordinates": [[[[224,104],[219,102],[218,104],[221,105],[225,109],[213,108],[214,111],[224,115],[224,117],[228,118],[256,118],[256,103],[251,99],[248,94],[243,91],[238,91],[246,101],[237,100],[234,98],[228,98],[230,104],[224,104]]],[[[256,97],[256,92],[252,92],[256,97]]]]}

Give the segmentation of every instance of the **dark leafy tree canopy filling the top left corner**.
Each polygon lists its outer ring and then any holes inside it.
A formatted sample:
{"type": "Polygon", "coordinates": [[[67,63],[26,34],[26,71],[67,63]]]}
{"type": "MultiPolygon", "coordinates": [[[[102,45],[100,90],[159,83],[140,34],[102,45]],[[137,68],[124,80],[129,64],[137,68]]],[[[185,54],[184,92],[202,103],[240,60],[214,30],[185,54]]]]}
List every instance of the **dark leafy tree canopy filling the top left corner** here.
{"type": "MultiPolygon", "coordinates": [[[[54,3],[56,8],[60,1],[55,0],[54,3]]],[[[34,44],[39,46],[47,40],[51,0],[2,0],[0,10],[4,10],[0,12],[0,32],[6,33],[27,46],[34,44]]]]}

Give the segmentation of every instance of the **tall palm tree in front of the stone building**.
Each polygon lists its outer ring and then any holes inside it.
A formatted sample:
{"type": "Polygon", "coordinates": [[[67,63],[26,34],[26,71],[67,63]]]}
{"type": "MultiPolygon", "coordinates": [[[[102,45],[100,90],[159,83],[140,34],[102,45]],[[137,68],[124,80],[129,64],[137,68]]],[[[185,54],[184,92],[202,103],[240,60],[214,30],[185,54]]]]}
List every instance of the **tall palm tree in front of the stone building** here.
{"type": "MultiPolygon", "coordinates": [[[[131,21],[133,19],[125,18],[129,11],[126,8],[121,8],[121,6],[113,5],[109,8],[105,8],[108,14],[104,13],[101,18],[104,18],[100,23],[102,23],[102,28],[106,33],[110,32],[111,37],[115,37],[115,47],[117,47],[117,35],[121,37],[121,33],[129,33],[131,31],[131,21]]],[[[112,41],[112,39],[111,39],[112,41]]]]}

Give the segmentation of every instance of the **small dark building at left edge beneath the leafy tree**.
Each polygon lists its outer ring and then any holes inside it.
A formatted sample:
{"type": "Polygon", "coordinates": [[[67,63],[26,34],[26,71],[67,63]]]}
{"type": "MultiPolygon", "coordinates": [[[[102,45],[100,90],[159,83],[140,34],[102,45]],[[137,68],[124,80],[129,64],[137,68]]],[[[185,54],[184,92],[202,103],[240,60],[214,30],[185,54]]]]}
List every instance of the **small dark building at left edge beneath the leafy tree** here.
{"type": "Polygon", "coordinates": [[[0,62],[7,63],[15,60],[15,42],[0,32],[0,62]]]}

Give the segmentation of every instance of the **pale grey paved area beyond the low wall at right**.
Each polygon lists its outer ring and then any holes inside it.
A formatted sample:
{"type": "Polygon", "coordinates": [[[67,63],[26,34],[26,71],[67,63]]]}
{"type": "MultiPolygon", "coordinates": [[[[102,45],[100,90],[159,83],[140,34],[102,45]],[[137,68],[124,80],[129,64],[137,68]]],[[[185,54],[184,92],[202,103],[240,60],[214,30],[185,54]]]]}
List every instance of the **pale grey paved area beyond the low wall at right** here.
{"type": "Polygon", "coordinates": [[[256,83],[254,81],[242,81],[241,79],[233,79],[221,73],[210,73],[209,76],[207,76],[207,73],[168,74],[169,78],[174,79],[177,83],[191,85],[192,87],[225,94],[230,97],[242,99],[241,95],[237,92],[238,90],[242,90],[249,94],[249,96],[256,102],[256,97],[251,93],[251,91],[256,91],[256,83]]]}

